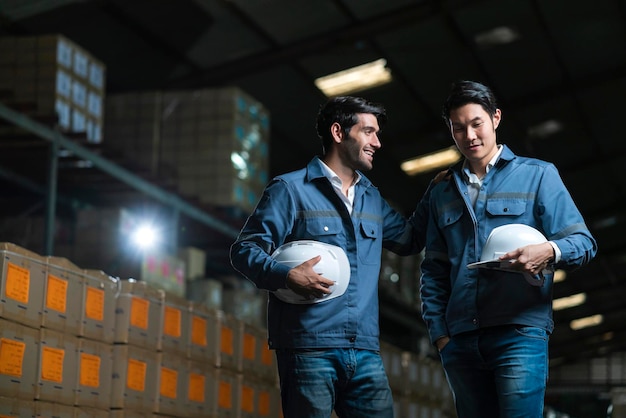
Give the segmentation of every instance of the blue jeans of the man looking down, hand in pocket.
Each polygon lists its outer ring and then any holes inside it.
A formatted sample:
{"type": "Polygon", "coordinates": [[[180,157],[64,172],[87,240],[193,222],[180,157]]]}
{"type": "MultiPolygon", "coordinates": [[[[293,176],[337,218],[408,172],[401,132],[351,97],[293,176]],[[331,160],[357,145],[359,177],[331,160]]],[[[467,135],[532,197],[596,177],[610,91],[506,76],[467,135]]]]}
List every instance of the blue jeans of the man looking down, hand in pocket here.
{"type": "Polygon", "coordinates": [[[510,325],[460,334],[440,356],[459,418],[543,416],[545,330],[510,325]]]}

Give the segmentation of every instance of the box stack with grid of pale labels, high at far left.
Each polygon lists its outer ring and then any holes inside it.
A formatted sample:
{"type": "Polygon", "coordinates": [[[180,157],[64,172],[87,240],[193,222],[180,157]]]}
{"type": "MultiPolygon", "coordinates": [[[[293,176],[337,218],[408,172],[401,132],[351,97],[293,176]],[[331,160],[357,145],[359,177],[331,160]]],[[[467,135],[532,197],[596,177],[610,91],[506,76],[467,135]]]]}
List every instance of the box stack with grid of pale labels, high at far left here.
{"type": "Polygon", "coordinates": [[[33,117],[57,115],[61,131],[102,141],[104,64],[60,34],[0,38],[0,89],[33,117]]]}

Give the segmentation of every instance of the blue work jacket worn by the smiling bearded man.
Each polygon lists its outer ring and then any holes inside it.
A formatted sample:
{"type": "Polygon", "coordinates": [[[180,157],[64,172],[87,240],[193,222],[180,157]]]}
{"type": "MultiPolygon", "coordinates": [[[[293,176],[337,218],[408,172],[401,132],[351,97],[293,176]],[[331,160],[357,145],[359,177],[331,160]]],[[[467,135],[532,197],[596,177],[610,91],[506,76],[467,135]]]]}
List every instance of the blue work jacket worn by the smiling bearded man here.
{"type": "MultiPolygon", "coordinates": [[[[280,175],[267,185],[231,246],[232,266],[258,288],[286,287],[289,267],[271,258],[284,243],[316,240],[336,245],[350,262],[350,283],[340,297],[298,305],[268,301],[269,347],[379,350],[378,278],[382,249],[419,252],[426,217],[411,222],[396,212],[361,174],[352,214],[336,194],[315,157],[306,168],[280,175]]],[[[426,202],[425,199],[423,199],[426,202]]],[[[420,206],[425,210],[426,206],[420,206]]]]}

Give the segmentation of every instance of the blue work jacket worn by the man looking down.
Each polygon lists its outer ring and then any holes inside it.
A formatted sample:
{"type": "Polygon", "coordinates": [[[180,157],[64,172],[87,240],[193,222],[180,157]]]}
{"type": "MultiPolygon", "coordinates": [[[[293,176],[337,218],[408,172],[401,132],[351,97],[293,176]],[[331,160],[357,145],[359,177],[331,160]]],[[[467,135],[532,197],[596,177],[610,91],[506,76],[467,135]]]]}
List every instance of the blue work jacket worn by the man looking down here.
{"type": "Polygon", "coordinates": [[[551,333],[552,276],[543,287],[519,273],[468,269],[480,261],[491,231],[520,223],[541,231],[561,250],[555,267],[588,263],[597,244],[553,164],[519,157],[504,146],[483,180],[472,207],[462,163],[451,181],[433,187],[426,251],[421,265],[422,317],[431,342],[443,336],[506,324],[536,326],[551,333]]]}

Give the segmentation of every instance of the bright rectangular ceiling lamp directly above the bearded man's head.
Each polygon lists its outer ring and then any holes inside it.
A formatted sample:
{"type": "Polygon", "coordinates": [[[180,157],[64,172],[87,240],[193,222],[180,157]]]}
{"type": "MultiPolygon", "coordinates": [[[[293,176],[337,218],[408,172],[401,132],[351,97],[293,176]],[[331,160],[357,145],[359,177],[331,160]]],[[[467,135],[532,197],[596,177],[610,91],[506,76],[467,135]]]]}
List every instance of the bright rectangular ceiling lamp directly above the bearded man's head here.
{"type": "Polygon", "coordinates": [[[387,61],[378,59],[367,64],[317,78],[315,85],[326,97],[351,94],[381,86],[391,81],[391,71],[385,67],[387,61]]]}

